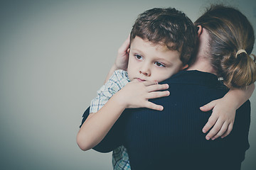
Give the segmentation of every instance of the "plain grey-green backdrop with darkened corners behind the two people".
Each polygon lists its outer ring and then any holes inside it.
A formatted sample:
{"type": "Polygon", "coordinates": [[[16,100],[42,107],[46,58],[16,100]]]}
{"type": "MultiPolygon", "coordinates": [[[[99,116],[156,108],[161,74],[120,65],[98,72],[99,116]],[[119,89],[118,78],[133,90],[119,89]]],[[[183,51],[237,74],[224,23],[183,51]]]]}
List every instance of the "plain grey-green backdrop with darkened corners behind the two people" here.
{"type": "MultiPolygon", "coordinates": [[[[82,152],[75,137],[118,47],[146,9],[171,6],[195,21],[213,2],[256,29],[255,0],[1,1],[0,169],[112,169],[111,153],[82,152]]],[[[255,93],[250,101],[244,170],[256,169],[255,93]]]]}

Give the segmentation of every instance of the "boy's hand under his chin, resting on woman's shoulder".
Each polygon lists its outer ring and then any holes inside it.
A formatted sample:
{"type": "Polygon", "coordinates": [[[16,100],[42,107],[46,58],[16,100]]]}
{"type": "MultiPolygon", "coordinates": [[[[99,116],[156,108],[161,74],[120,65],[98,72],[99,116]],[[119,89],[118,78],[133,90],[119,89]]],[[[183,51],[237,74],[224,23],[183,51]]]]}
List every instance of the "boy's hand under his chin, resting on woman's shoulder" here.
{"type": "Polygon", "coordinates": [[[119,106],[124,108],[151,108],[162,111],[164,107],[151,103],[149,98],[169,96],[169,91],[161,91],[168,88],[168,84],[157,84],[156,81],[141,82],[134,79],[114,94],[114,96],[118,96],[117,101],[119,106]]]}

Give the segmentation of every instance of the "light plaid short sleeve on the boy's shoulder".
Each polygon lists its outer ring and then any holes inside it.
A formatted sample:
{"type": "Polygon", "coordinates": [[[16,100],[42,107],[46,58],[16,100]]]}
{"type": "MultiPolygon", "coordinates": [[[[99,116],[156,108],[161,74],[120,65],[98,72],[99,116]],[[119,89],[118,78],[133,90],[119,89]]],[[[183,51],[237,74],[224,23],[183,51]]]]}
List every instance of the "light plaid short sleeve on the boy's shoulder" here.
{"type": "Polygon", "coordinates": [[[97,97],[92,99],[90,113],[99,111],[117,91],[128,83],[125,75],[123,70],[117,70],[112,74],[112,77],[97,91],[97,97]]]}

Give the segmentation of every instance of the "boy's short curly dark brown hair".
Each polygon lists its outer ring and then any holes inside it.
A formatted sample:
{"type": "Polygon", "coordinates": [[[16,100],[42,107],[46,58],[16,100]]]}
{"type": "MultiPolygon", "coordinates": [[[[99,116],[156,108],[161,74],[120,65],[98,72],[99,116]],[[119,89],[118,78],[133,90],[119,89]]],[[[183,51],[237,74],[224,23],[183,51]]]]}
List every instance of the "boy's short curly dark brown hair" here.
{"type": "Polygon", "coordinates": [[[176,8],[152,8],[141,13],[132,27],[130,42],[136,37],[154,45],[166,45],[181,52],[183,65],[192,61],[197,31],[185,13],[176,8]]]}

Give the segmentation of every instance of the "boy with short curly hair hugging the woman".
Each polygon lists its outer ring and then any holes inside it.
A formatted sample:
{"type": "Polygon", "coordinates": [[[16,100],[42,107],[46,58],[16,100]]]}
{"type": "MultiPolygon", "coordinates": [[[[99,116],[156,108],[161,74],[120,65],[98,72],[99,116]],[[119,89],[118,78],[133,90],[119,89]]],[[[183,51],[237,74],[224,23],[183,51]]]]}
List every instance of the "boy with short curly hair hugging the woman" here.
{"type": "MultiPolygon", "coordinates": [[[[127,50],[127,72],[115,71],[97,91],[91,114],[78,134],[80,148],[87,150],[97,145],[125,108],[163,110],[148,99],[169,96],[168,91],[160,91],[168,86],[157,82],[168,79],[191,62],[196,35],[193,23],[175,8],[153,8],[139,15],[127,50]]],[[[114,169],[130,169],[123,146],[114,149],[112,163],[114,169]]]]}

